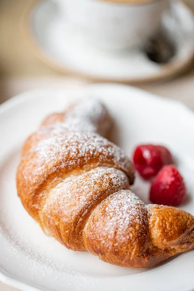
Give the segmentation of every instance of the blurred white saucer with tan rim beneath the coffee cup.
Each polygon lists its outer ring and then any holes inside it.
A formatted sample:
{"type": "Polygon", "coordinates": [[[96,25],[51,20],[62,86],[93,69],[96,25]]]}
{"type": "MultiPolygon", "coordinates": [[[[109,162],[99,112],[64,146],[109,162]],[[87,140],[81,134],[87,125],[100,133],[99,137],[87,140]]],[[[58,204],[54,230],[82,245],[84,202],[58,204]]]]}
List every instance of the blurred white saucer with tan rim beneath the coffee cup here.
{"type": "Polygon", "coordinates": [[[151,62],[141,50],[108,53],[96,50],[65,32],[60,11],[52,0],[33,4],[25,14],[23,29],[35,55],[61,72],[93,80],[146,82],[176,75],[194,55],[194,16],[183,3],[172,2],[163,26],[175,40],[177,53],[166,65],[151,62]]]}

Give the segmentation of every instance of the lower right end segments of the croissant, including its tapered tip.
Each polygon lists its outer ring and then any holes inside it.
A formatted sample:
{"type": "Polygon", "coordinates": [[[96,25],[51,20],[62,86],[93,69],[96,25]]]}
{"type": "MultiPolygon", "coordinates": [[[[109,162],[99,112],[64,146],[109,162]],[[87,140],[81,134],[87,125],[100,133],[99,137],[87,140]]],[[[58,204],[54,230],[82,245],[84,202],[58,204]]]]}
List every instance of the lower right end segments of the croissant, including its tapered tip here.
{"type": "Polygon", "coordinates": [[[111,194],[92,212],[85,248],[123,267],[147,268],[194,248],[194,217],[174,207],[145,205],[129,190],[111,194]]]}

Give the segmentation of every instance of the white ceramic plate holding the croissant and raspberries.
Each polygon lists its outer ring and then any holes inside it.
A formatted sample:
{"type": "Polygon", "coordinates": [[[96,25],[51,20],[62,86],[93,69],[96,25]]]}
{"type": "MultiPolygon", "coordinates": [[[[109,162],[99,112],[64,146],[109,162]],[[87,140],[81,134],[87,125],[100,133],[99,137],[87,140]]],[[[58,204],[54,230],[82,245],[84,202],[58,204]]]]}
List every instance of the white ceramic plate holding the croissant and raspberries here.
{"type": "MultiPolygon", "coordinates": [[[[20,94],[0,106],[0,280],[23,291],[191,291],[194,251],[151,269],[116,267],[66,249],[22,207],[15,176],[24,139],[47,113],[86,94],[107,104],[116,124],[112,139],[127,154],[142,142],[169,146],[187,183],[189,198],[182,208],[194,214],[194,114],[184,105],[113,84],[20,94]]],[[[148,202],[148,184],[140,178],[132,191],[148,202]]]]}

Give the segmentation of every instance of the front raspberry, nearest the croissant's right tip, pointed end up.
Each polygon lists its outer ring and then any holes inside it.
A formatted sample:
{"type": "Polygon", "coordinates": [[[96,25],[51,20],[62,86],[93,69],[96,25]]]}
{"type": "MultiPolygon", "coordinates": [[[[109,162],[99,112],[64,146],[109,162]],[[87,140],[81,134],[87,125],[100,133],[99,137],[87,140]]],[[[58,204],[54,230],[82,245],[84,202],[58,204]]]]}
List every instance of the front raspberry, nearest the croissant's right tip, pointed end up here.
{"type": "Polygon", "coordinates": [[[174,165],[162,168],[153,179],[149,199],[155,204],[178,206],[186,197],[184,180],[174,165]]]}

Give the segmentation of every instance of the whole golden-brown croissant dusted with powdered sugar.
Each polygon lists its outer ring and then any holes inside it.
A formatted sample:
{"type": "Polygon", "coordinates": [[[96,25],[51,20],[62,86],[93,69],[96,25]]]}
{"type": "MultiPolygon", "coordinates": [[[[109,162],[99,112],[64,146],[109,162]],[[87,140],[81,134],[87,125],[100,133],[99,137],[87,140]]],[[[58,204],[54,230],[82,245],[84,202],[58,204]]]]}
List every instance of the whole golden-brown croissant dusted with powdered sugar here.
{"type": "Polygon", "coordinates": [[[194,217],[145,205],[129,187],[134,170],[103,136],[111,117],[92,98],[52,113],[25,142],[18,196],[44,232],[105,262],[147,268],[194,248],[194,217]]]}

